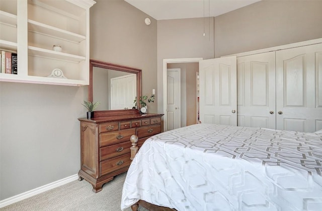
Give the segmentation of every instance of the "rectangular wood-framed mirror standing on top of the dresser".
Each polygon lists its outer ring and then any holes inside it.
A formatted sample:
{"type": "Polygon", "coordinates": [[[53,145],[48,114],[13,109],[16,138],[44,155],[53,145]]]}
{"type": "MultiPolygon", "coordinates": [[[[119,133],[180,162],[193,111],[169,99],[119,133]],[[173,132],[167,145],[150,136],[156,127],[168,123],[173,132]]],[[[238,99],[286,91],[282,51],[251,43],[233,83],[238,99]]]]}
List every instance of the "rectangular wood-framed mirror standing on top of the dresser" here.
{"type": "Polygon", "coordinates": [[[88,100],[101,102],[97,110],[138,109],[141,87],[141,69],[90,59],[88,100]]]}

